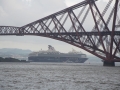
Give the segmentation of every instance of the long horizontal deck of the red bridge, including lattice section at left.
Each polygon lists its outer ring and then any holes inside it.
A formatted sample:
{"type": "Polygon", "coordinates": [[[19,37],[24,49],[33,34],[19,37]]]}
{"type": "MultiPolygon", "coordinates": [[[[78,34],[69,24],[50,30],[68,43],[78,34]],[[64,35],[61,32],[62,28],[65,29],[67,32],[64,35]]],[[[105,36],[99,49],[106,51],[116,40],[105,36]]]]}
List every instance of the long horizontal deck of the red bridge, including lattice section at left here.
{"type": "MultiPolygon", "coordinates": [[[[61,32],[61,35],[71,35],[71,36],[77,36],[80,35],[84,35],[84,36],[91,36],[91,35],[95,35],[95,36],[99,36],[98,32],[61,32]]],[[[100,32],[101,36],[106,36],[106,35],[111,35],[112,32],[100,32]]],[[[14,26],[0,26],[0,35],[39,35],[39,36],[45,36],[45,35],[59,35],[59,33],[40,33],[40,32],[29,32],[29,33],[23,33],[20,32],[20,27],[14,27],[14,26]]],[[[119,35],[120,36],[120,31],[115,31],[114,35],[119,35]]]]}

